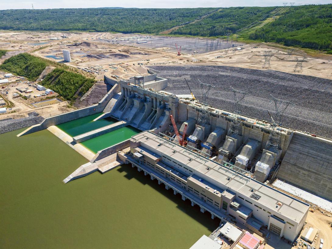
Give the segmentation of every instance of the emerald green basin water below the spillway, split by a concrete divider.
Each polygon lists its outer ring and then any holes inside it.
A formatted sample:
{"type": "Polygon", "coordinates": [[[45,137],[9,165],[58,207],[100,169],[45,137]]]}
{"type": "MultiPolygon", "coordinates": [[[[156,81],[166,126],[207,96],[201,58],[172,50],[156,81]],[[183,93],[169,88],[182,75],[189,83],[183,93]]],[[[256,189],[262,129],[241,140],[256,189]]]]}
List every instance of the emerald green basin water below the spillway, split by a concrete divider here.
{"type": "MultiPolygon", "coordinates": [[[[101,114],[102,113],[97,113],[63,124],[58,124],[57,127],[59,127],[61,130],[63,130],[70,136],[77,136],[79,134],[118,122],[118,120],[112,118],[101,119],[93,122],[93,120],[99,117],[101,114]]],[[[122,142],[139,132],[141,131],[134,127],[125,126],[117,130],[108,132],[106,134],[100,135],[98,137],[86,140],[81,144],[92,152],[97,153],[99,150],[122,142]]]]}

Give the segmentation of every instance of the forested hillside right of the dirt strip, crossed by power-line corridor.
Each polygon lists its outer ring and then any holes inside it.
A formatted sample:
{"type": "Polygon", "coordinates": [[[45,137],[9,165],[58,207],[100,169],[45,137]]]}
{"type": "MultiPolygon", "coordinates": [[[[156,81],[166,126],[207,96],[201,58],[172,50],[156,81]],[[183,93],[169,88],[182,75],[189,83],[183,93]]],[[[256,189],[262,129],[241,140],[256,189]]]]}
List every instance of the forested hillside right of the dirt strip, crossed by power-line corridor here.
{"type": "Polygon", "coordinates": [[[239,38],[274,41],[287,46],[332,50],[331,4],[293,6],[285,11],[281,9],[281,13],[276,11],[268,15],[273,9],[276,8],[221,9],[201,21],[173,31],[172,34],[217,37],[235,32],[239,34],[239,38]],[[271,22],[260,25],[269,17],[272,17],[271,22]],[[256,20],[258,22],[255,23],[256,20]],[[251,24],[253,24],[252,28],[246,28],[251,24]]]}

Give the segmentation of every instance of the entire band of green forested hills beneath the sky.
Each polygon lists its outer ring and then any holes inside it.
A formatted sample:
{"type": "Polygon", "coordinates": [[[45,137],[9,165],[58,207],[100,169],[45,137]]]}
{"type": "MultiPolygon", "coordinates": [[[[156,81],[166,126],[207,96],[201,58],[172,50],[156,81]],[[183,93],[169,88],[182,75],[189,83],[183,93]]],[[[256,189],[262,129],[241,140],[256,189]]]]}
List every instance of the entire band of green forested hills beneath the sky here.
{"type": "Polygon", "coordinates": [[[156,34],[180,25],[183,26],[171,34],[205,37],[233,34],[235,38],[235,33],[238,39],[273,41],[332,53],[332,4],[220,9],[0,10],[0,29],[4,30],[156,34]]]}

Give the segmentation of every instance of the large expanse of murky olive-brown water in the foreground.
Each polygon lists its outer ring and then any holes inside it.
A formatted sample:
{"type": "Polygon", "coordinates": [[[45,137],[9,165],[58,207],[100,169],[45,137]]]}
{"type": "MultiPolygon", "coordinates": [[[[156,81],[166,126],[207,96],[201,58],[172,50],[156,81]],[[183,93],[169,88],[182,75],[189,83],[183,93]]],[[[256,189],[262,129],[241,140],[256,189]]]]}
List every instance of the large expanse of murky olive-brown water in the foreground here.
{"type": "Polygon", "coordinates": [[[86,159],[22,130],[0,135],[0,248],[189,248],[219,224],[130,165],[63,184],[86,159]]]}

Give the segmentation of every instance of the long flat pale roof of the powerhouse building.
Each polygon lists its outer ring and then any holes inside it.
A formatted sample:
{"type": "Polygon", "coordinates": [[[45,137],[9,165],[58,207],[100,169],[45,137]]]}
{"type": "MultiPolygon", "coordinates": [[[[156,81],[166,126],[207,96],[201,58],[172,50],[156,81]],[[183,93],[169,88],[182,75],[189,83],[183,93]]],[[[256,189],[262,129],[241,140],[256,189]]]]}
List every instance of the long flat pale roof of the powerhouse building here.
{"type": "MultiPolygon", "coordinates": [[[[152,151],[157,151],[159,155],[167,155],[172,160],[181,162],[187,167],[194,169],[195,175],[196,172],[199,172],[211,180],[215,180],[220,186],[224,186],[221,189],[222,191],[229,189],[234,193],[244,196],[246,200],[252,200],[257,202],[258,205],[262,204],[264,207],[269,207],[291,220],[299,222],[309,209],[309,205],[287,194],[246,176],[240,177],[239,174],[232,170],[220,167],[216,162],[195,155],[192,151],[180,145],[170,143],[152,132],[143,131],[134,135],[133,139],[140,141],[141,146],[149,148],[152,151]],[[209,170],[207,170],[207,167],[210,167],[209,170]],[[252,194],[258,195],[259,198],[256,200],[252,199],[252,194]],[[278,203],[281,203],[281,206],[278,203]]],[[[206,180],[209,181],[209,179],[206,180]]]]}

